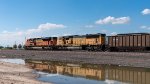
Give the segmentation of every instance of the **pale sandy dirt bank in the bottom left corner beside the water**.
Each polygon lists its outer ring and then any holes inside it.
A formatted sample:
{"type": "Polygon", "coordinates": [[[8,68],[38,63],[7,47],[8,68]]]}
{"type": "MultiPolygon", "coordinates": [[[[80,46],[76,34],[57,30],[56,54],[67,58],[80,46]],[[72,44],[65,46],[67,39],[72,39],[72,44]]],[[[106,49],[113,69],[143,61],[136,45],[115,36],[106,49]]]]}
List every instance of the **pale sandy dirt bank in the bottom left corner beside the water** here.
{"type": "Polygon", "coordinates": [[[35,80],[36,77],[24,65],[0,62],[0,84],[48,84],[35,80]]]}

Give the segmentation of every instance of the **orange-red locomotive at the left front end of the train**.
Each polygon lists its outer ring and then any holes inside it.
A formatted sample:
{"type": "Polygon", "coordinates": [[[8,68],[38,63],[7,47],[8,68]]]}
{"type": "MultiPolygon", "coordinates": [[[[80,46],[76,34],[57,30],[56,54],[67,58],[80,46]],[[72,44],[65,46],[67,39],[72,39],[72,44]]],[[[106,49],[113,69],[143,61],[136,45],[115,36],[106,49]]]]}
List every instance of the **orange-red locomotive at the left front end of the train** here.
{"type": "Polygon", "coordinates": [[[25,43],[26,49],[54,49],[57,44],[57,37],[42,37],[27,39],[25,43]]]}

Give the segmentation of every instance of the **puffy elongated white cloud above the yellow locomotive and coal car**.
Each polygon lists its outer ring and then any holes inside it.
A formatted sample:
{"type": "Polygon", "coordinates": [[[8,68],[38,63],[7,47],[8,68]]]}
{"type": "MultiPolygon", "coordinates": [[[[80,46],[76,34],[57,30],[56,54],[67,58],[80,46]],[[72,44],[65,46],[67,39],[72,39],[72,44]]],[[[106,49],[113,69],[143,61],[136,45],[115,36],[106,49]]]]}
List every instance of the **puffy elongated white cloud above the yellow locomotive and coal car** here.
{"type": "Polygon", "coordinates": [[[126,24],[130,21],[130,17],[119,17],[115,18],[112,16],[108,16],[104,19],[100,19],[95,22],[95,24],[126,24]]]}

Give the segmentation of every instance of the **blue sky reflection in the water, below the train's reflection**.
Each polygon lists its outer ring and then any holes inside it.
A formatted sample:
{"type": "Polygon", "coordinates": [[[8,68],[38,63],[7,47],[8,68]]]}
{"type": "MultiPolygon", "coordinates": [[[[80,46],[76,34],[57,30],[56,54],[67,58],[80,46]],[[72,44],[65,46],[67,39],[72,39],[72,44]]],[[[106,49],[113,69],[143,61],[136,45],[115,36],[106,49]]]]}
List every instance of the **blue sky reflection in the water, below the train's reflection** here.
{"type": "MultiPolygon", "coordinates": [[[[40,73],[41,74],[41,73],[40,73]]],[[[41,74],[38,80],[50,82],[54,84],[120,84],[121,82],[113,80],[90,80],[84,77],[72,77],[61,74],[41,74]]]]}

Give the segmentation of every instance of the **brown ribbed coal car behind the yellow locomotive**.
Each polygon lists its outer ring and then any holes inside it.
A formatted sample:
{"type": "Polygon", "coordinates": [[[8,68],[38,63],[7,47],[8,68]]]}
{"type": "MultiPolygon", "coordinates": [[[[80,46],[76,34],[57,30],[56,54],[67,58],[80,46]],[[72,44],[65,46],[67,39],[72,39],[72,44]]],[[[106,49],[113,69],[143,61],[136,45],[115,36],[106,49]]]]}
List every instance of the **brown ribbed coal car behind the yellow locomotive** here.
{"type": "Polygon", "coordinates": [[[147,51],[150,50],[149,33],[127,33],[108,36],[110,51],[147,51]]]}

